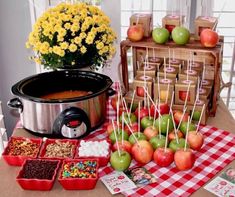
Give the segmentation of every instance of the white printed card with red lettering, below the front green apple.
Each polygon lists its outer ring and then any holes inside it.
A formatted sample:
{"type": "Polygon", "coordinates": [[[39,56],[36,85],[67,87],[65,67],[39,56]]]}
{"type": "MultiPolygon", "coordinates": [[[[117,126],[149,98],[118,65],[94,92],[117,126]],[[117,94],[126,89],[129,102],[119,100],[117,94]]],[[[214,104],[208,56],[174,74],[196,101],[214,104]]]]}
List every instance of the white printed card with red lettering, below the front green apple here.
{"type": "Polygon", "coordinates": [[[123,172],[114,171],[112,174],[101,177],[100,180],[111,194],[136,188],[136,185],[123,172]]]}

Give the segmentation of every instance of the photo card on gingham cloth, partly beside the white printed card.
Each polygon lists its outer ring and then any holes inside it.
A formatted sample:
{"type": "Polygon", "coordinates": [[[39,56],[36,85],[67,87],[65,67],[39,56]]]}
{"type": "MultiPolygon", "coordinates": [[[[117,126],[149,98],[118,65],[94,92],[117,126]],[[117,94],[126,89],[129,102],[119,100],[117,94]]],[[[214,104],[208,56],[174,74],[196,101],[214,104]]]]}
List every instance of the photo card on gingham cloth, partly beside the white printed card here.
{"type": "Polygon", "coordinates": [[[157,182],[156,177],[143,167],[128,169],[125,171],[125,174],[137,185],[137,187],[157,182]]]}

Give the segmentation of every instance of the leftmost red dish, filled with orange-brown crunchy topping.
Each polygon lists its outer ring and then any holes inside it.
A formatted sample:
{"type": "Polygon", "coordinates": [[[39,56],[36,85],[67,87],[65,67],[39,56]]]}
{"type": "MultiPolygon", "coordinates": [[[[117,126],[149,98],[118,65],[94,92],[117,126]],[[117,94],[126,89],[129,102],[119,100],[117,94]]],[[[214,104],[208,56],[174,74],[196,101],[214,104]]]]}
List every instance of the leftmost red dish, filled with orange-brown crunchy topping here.
{"type": "Polygon", "coordinates": [[[11,137],[2,157],[9,165],[22,166],[26,159],[37,158],[41,145],[40,138],[11,137]]]}

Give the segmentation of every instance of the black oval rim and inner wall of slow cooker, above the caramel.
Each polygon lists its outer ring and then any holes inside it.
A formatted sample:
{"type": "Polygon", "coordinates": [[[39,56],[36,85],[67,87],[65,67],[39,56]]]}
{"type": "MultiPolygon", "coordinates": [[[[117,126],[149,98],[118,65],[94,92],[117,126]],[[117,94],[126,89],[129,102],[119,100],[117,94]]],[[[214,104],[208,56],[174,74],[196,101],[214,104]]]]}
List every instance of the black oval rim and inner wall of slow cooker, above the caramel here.
{"type": "Polygon", "coordinates": [[[12,93],[36,102],[76,102],[95,97],[112,85],[112,80],[99,73],[64,70],[37,74],[19,81],[12,87],[12,93]],[[67,99],[43,99],[43,95],[54,92],[81,90],[92,94],[67,99]]]}

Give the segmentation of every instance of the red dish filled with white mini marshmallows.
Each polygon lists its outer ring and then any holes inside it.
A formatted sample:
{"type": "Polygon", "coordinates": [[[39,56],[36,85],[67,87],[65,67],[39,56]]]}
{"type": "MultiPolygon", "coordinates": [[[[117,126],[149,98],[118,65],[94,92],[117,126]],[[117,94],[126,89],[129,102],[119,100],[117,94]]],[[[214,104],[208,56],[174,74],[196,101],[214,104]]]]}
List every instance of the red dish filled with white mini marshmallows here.
{"type": "Polygon", "coordinates": [[[110,160],[111,144],[107,140],[81,140],[78,143],[76,159],[98,159],[99,167],[106,166],[110,160]]]}

